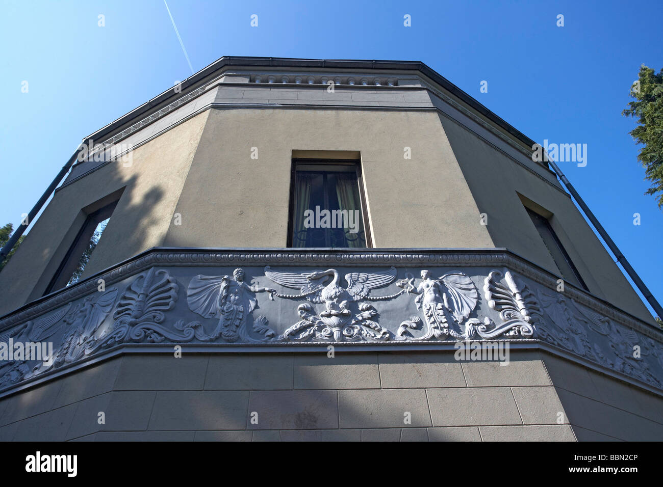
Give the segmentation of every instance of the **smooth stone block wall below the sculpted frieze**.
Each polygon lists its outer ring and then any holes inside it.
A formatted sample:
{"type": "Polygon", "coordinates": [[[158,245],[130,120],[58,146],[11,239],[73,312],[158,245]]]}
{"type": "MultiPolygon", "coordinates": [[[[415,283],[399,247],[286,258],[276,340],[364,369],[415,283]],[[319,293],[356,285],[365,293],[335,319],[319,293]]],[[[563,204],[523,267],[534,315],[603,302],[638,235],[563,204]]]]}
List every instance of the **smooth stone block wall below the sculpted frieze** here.
{"type": "Polygon", "coordinates": [[[501,366],[457,362],[449,351],[124,354],[0,400],[0,440],[663,437],[661,398],[547,352],[510,358],[501,366]]]}

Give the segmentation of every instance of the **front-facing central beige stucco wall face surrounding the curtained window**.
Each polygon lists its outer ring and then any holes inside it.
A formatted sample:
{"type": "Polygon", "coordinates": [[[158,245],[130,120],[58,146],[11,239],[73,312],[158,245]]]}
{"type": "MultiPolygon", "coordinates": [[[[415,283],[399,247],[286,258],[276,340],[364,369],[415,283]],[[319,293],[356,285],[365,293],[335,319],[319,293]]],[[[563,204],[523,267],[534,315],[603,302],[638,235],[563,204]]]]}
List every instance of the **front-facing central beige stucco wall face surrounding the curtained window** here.
{"type": "Polygon", "coordinates": [[[493,246],[435,113],[324,109],[212,110],[165,244],[286,246],[293,150],[361,153],[376,247],[493,246]]]}

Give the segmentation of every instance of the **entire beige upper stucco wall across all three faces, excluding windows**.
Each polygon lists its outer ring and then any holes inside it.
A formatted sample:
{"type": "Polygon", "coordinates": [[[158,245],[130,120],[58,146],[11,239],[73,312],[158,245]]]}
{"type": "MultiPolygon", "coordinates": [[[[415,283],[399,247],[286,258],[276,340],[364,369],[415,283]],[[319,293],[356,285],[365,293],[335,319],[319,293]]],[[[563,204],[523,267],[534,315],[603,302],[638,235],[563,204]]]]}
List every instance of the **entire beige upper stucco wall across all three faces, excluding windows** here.
{"type": "Polygon", "coordinates": [[[435,111],[305,106],[217,105],[135,148],[131,167],[108,164],[64,186],[0,273],[0,315],[42,295],[80,210],[123,187],[83,277],[152,246],[286,246],[293,150],[313,150],[360,155],[373,246],[504,246],[558,274],[520,193],[553,213],[591,293],[652,322],[570,197],[535,174],[543,168],[526,170],[435,111]]]}

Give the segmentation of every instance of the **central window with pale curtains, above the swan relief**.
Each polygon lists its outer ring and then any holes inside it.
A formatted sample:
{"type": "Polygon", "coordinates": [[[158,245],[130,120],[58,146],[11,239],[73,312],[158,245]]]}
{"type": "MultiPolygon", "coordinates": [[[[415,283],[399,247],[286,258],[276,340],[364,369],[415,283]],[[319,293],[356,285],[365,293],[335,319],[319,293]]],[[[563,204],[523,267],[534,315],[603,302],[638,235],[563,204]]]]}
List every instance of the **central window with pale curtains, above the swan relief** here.
{"type": "Polygon", "coordinates": [[[290,187],[288,246],[370,246],[357,162],[295,160],[290,187]]]}

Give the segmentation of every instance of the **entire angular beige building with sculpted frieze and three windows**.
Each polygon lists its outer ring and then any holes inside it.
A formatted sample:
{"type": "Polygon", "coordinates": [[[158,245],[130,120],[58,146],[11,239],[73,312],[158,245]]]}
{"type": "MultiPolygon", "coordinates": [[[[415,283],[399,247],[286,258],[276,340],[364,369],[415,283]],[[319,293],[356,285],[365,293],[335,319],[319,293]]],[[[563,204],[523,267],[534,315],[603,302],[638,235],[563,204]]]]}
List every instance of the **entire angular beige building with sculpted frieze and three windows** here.
{"type": "Polygon", "coordinates": [[[663,335],[533,146],[420,62],[217,60],[0,273],[53,348],[0,439],[660,439],[663,335]]]}

